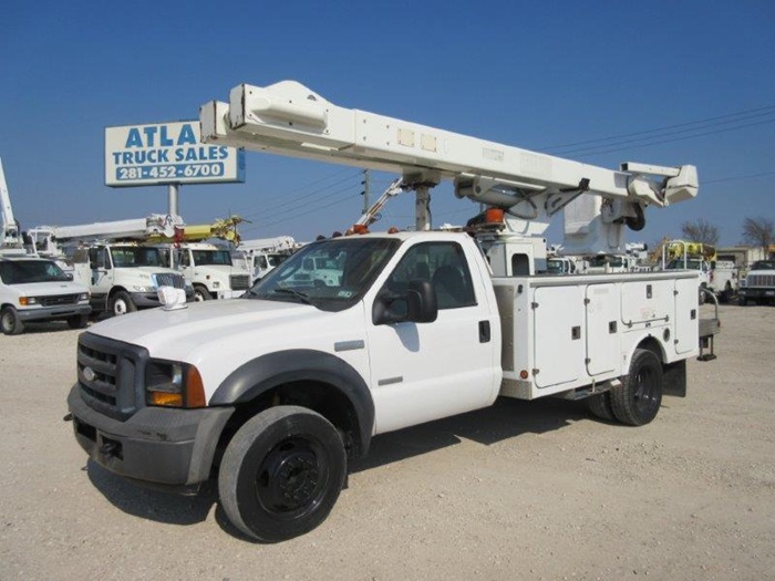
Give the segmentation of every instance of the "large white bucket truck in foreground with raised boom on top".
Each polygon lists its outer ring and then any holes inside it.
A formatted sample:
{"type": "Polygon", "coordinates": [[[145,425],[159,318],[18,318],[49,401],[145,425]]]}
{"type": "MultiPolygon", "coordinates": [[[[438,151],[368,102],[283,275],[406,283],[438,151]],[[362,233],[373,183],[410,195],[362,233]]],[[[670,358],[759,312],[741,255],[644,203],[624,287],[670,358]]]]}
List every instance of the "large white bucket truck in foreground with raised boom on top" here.
{"type": "Polygon", "coordinates": [[[698,274],[537,276],[546,245],[529,235],[585,194],[610,200],[611,227],[640,222],[696,195],[694,167],[609,170],[342,108],[294,82],[240,85],[200,122],[208,143],[396,172],[417,228],[313,242],[245,299],[82,333],[69,418],[106,469],[184,489],[215,476],[234,525],[279,541],[326,519],[378,434],[498,396],[588,398],[642,425],[664,393],[685,395],[698,274]],[[430,229],[441,179],[490,207],[466,231],[430,229]],[[296,282],[308,259],[339,276],[296,282]]]}

